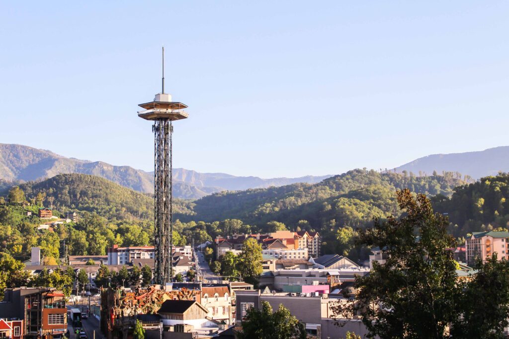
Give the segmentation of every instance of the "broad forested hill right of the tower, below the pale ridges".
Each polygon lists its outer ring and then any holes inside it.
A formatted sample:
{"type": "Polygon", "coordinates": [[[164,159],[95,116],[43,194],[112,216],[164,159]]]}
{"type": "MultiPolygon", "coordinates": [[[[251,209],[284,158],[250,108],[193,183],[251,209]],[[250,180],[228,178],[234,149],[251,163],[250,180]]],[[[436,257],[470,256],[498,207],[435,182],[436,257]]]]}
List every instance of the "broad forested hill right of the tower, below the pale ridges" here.
{"type": "Polygon", "coordinates": [[[461,174],[449,172],[417,177],[413,173],[381,174],[374,170],[356,169],[316,184],[297,183],[277,188],[213,194],[195,201],[196,214],[183,219],[210,222],[236,218],[261,225],[270,220],[292,224],[310,218],[309,222],[317,227],[324,221],[322,211],[349,206],[345,208],[371,210],[375,213],[380,210],[394,212],[394,192],[397,189],[408,188],[427,195],[450,195],[456,186],[463,183],[461,174]],[[356,207],[351,207],[348,200],[358,200],[355,201],[356,207]]]}

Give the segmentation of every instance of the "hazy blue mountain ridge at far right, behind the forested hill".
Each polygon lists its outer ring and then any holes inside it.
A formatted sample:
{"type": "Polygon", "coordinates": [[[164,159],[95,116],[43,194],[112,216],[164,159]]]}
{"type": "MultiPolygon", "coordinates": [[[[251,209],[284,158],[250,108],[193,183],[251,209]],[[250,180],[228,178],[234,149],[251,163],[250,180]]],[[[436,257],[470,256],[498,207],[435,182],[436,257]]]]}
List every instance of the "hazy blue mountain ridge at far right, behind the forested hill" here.
{"type": "Polygon", "coordinates": [[[418,175],[419,171],[431,175],[433,171],[460,172],[474,179],[509,172],[509,146],[488,148],[482,151],[434,154],[396,167],[397,172],[407,171],[418,175]]]}

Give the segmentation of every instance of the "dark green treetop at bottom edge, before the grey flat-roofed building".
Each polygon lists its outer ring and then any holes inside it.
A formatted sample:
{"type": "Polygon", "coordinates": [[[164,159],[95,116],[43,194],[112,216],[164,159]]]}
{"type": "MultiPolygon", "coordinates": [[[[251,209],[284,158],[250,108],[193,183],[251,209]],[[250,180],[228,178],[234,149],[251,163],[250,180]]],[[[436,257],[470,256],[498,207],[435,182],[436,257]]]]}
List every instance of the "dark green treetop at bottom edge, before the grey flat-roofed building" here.
{"type": "Polygon", "coordinates": [[[279,304],[276,312],[267,301],[262,301],[261,310],[251,307],[242,321],[240,339],[305,339],[304,324],[290,314],[290,311],[279,304]]]}

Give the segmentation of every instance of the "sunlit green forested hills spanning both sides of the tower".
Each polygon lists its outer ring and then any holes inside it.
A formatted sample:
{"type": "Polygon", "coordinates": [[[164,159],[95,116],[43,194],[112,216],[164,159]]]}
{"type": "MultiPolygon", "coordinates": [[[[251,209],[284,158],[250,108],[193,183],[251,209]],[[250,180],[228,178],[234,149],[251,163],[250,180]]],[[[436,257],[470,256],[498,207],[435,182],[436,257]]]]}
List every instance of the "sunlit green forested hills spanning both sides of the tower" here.
{"type": "MultiPolygon", "coordinates": [[[[195,202],[175,199],[174,242],[186,243],[194,239],[202,243],[217,235],[235,232],[306,229],[321,233],[324,253],[363,259],[367,249],[354,245],[356,229],[369,227],[373,219],[385,218],[389,213],[399,214],[396,190],[408,188],[417,193],[438,195],[434,201],[442,204],[444,210],[449,202],[447,196],[463,184],[461,175],[453,173],[417,177],[413,173],[357,169],[316,184],[223,192],[195,202]]],[[[477,183],[465,187],[475,185],[477,183]]],[[[3,225],[0,227],[3,232],[0,232],[0,250],[14,256],[26,258],[31,245],[40,245],[46,256],[58,258],[64,254],[64,239],[69,254],[103,254],[106,247],[114,243],[152,243],[153,198],[146,194],[85,174],[56,175],[40,182],[23,183],[19,188],[22,198],[10,199],[10,204],[0,206],[0,225],[3,225]],[[23,200],[32,206],[22,207],[16,203],[23,200]],[[81,220],[77,224],[37,231],[37,226],[43,222],[34,215],[38,206],[53,207],[57,216],[75,210],[81,220]],[[26,210],[32,210],[33,215],[26,216],[26,210]]],[[[458,192],[452,199],[458,199],[458,192]]],[[[494,199],[485,195],[485,200],[494,199]]],[[[502,211],[498,209],[499,213],[502,211]]]]}

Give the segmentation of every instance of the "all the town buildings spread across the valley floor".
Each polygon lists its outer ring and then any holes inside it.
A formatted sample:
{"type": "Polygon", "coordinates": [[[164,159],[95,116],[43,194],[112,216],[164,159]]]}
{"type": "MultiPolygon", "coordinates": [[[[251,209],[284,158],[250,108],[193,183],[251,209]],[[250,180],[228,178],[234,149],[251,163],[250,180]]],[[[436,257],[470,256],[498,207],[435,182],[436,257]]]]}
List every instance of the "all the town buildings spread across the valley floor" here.
{"type": "MultiPolygon", "coordinates": [[[[262,246],[263,273],[259,289],[244,282],[230,282],[217,278],[213,284],[205,282],[168,283],[149,288],[122,287],[106,289],[101,295],[101,328],[106,332],[127,337],[136,320],[142,322],[147,337],[234,338],[246,312],[259,309],[263,301],[273,309],[279,304],[305,324],[309,337],[340,338],[347,331],[363,336],[367,331],[359,317],[348,319],[337,327],[332,306],[355,296],[356,275],[370,273],[373,262],[383,264],[388,253],[373,248],[369,262],[362,266],[340,255],[319,255],[321,240],[318,233],[279,231],[269,234],[236,235],[217,238],[217,255],[228,251],[242,251],[247,238],[256,239],[262,246]],[[300,254],[299,253],[303,253],[300,254]],[[122,334],[119,334],[122,333],[122,334]]],[[[475,232],[465,246],[451,248],[460,262],[459,279],[469,279],[474,272],[467,264],[483,260],[494,253],[508,259],[506,244],[509,232],[475,232]],[[466,263],[466,264],[464,264],[466,263]]],[[[191,246],[174,248],[175,273],[183,275],[195,269],[195,254],[191,246]]],[[[43,269],[66,266],[41,266],[40,250],[34,248],[32,262],[25,266],[32,274],[43,269]],[[32,264],[31,264],[32,263],[32,264]]],[[[100,264],[110,271],[123,266],[132,268],[148,265],[154,268],[153,246],[112,246],[106,256],[70,256],[68,265],[76,272],[87,272],[90,288],[94,289],[100,264]],[[93,265],[86,263],[93,260],[93,265]]],[[[8,289],[0,303],[0,337],[58,338],[67,331],[65,297],[53,288],[8,289]]],[[[115,336],[114,336],[115,337],[115,336]]]]}

